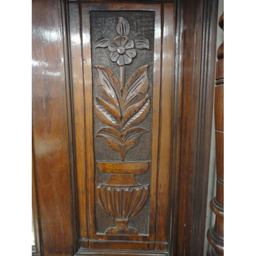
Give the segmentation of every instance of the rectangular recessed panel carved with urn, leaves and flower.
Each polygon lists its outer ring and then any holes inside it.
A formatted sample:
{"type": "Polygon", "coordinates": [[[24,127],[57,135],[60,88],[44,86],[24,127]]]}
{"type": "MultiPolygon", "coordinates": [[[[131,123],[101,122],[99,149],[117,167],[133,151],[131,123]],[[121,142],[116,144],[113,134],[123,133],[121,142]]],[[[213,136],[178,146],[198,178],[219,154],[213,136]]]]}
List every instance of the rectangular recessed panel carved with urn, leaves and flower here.
{"type": "Polygon", "coordinates": [[[96,232],[147,235],[152,143],[148,93],[152,96],[154,12],[92,11],[90,18],[92,66],[97,70],[93,72],[94,135],[101,137],[94,138],[96,232]],[[140,36],[143,31],[151,44],[140,36]],[[96,38],[102,33],[111,39],[96,38]],[[138,152],[144,154],[138,157],[138,152]],[[141,183],[135,175],[141,176],[141,183]],[[116,226],[114,219],[117,227],[108,228],[106,223],[116,226]]]}

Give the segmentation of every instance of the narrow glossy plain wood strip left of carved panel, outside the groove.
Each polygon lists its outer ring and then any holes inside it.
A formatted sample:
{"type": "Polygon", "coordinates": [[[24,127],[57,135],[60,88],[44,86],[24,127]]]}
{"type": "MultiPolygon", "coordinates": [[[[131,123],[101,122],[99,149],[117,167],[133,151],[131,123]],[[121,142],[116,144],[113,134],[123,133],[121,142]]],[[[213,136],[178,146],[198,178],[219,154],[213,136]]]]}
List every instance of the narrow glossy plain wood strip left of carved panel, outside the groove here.
{"type": "MultiPolygon", "coordinates": [[[[86,209],[86,145],[84,140],[84,89],[82,75],[82,49],[80,35],[79,5],[69,5],[70,50],[73,89],[73,112],[75,133],[75,161],[79,207],[86,209]]],[[[79,211],[80,238],[88,238],[86,211],[79,211]]]]}

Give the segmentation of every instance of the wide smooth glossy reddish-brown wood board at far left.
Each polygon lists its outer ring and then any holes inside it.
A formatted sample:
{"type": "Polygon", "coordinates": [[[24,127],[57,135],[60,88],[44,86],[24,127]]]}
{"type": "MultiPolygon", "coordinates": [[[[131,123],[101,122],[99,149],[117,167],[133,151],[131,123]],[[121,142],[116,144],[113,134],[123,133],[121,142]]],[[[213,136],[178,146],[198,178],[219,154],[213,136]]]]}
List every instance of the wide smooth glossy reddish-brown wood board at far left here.
{"type": "Polygon", "coordinates": [[[60,1],[33,1],[32,20],[32,136],[41,253],[71,255],[73,226],[60,1]]]}

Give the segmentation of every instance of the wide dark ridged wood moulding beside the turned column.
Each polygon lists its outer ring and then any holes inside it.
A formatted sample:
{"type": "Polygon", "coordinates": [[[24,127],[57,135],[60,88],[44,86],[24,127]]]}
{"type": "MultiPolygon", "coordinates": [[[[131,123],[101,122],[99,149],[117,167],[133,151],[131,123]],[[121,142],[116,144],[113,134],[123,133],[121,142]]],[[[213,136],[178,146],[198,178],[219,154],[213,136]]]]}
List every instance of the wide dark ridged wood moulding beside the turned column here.
{"type": "Polygon", "coordinates": [[[179,216],[173,255],[203,255],[217,11],[217,1],[182,1],[181,4],[181,33],[186,44],[181,46],[179,216]]]}

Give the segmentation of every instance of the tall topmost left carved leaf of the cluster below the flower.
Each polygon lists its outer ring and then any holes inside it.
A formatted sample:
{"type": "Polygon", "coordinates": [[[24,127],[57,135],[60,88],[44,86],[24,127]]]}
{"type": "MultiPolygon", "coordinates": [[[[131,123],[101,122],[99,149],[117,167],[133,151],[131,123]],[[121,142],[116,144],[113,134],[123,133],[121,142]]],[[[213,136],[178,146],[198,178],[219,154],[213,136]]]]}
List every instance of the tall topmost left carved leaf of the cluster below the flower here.
{"type": "Polygon", "coordinates": [[[121,95],[120,85],[113,72],[106,68],[95,66],[99,72],[101,85],[98,88],[100,97],[120,111],[118,99],[121,95]]]}

